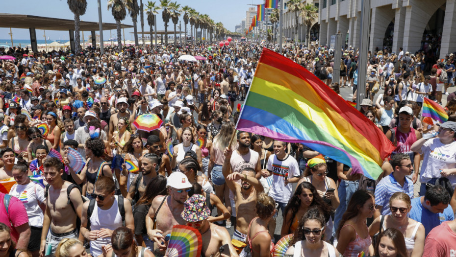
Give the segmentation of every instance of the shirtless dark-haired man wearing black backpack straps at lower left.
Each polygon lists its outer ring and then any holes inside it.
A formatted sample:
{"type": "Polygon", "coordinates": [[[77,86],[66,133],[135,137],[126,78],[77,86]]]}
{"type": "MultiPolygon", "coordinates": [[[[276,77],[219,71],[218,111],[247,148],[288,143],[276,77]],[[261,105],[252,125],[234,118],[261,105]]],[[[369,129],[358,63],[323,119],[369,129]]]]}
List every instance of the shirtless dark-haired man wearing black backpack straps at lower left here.
{"type": "Polygon", "coordinates": [[[63,163],[57,158],[49,158],[43,166],[43,176],[50,186],[45,193],[46,212],[41,234],[41,257],[52,255],[63,238],[78,237],[76,218],[81,217],[82,210],[81,192],[77,187],[71,190],[70,199],[68,199],[67,188],[72,184],[62,179],[63,163]],[[70,200],[70,204],[68,204],[68,200],[70,200]]]}

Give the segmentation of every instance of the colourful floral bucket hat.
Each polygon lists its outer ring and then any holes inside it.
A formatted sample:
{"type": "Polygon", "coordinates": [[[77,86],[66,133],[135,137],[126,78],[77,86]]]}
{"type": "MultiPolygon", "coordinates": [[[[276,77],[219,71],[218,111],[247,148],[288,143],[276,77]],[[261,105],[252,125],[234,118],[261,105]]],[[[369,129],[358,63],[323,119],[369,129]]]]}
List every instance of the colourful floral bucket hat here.
{"type": "Polygon", "coordinates": [[[180,213],[180,216],[187,222],[198,222],[209,217],[210,210],[206,205],[206,198],[201,194],[192,195],[185,201],[184,210],[180,213]]]}

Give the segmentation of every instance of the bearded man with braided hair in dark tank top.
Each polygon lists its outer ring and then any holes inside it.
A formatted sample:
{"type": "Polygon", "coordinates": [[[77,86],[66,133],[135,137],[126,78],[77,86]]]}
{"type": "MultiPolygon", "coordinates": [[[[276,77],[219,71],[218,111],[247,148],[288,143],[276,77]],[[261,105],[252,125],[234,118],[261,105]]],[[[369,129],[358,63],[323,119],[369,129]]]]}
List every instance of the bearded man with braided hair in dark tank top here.
{"type": "MultiPolygon", "coordinates": [[[[124,166],[125,164],[122,164],[124,166]]],[[[136,203],[146,191],[147,184],[157,176],[155,171],[158,165],[158,156],[156,154],[145,154],[141,161],[141,172],[130,184],[127,199],[134,200],[136,203]]]]}

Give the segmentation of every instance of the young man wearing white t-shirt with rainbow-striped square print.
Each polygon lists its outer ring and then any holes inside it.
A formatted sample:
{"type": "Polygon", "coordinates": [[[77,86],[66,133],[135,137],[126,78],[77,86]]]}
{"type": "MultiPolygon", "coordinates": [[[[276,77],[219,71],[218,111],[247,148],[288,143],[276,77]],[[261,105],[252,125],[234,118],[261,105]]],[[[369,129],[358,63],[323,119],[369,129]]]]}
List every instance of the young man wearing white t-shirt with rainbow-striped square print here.
{"type": "Polygon", "coordinates": [[[274,218],[269,222],[269,234],[274,237],[276,230],[276,218],[279,208],[284,214],[285,206],[291,198],[293,191],[292,183],[297,183],[301,176],[298,162],[295,158],[286,154],[286,142],[274,140],[274,154],[269,156],[267,170],[262,171],[263,177],[273,176],[272,186],[269,189],[271,196],[278,206],[274,218]]]}

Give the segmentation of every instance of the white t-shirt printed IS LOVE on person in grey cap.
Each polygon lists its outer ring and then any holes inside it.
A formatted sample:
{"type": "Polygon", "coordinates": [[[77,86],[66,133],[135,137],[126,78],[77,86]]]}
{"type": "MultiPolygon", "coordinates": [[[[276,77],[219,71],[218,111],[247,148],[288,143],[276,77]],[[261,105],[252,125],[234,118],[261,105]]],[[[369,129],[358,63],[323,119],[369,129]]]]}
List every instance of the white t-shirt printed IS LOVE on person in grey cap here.
{"type": "MultiPolygon", "coordinates": [[[[443,144],[439,138],[427,140],[421,146],[423,165],[421,166],[420,182],[429,182],[432,178],[440,178],[440,169],[456,168],[456,141],[443,144]]],[[[456,186],[456,175],[447,177],[453,188],[456,186]]]]}

